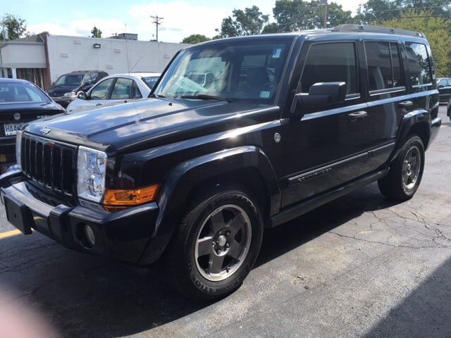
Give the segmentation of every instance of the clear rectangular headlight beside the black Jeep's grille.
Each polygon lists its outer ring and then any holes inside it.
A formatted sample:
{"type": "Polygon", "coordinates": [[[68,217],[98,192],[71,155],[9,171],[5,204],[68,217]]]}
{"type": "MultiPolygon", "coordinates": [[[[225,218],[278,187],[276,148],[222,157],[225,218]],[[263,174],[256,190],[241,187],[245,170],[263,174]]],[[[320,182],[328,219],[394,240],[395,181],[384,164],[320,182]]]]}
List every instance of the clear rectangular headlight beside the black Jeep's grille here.
{"type": "Polygon", "coordinates": [[[103,151],[78,147],[78,197],[101,201],[105,192],[106,159],[103,151]]]}

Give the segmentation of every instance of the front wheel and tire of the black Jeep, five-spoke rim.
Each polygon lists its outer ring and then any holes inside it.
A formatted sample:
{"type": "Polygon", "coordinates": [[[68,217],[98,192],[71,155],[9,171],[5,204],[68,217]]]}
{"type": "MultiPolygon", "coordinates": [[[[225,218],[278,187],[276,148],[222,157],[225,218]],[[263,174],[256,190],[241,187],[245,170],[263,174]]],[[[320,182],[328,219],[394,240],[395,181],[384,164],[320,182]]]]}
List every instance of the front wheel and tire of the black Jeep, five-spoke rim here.
{"type": "Polygon", "coordinates": [[[251,196],[240,189],[205,194],[187,208],[168,248],[169,281],[192,299],[226,296],[249,274],[262,237],[251,196]]]}

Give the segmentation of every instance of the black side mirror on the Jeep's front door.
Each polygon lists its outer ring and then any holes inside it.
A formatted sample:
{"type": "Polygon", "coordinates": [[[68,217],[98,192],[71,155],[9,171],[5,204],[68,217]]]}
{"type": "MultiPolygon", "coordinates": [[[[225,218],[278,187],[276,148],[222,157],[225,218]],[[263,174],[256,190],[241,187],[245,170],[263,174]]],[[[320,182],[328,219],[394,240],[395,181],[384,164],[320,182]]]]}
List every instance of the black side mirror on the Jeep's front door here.
{"type": "Polygon", "coordinates": [[[296,115],[304,111],[321,109],[340,104],[346,99],[346,82],[317,82],[309,89],[309,94],[296,94],[296,115]]]}

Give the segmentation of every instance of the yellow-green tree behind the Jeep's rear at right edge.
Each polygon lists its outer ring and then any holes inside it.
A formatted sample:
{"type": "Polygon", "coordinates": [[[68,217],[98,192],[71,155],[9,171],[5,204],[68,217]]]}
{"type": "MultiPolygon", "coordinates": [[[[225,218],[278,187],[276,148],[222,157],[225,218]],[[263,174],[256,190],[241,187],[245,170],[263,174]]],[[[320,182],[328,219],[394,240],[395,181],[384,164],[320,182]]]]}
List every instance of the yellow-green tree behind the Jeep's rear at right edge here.
{"type": "Polygon", "coordinates": [[[402,11],[399,18],[385,20],[381,25],[392,28],[402,28],[423,32],[431,44],[431,50],[437,77],[447,77],[451,74],[451,36],[450,20],[434,16],[431,11],[402,11]]]}

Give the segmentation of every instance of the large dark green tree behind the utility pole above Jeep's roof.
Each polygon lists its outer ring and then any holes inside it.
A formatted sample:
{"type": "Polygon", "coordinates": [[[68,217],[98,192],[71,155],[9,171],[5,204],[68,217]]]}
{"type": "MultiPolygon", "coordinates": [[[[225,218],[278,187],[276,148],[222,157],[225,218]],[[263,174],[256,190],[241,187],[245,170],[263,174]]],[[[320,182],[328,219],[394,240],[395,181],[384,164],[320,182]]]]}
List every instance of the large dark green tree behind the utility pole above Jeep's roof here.
{"type": "MultiPolygon", "coordinates": [[[[277,0],[273,8],[278,32],[312,30],[322,28],[325,6],[321,0],[310,2],[302,0],[277,0]]],[[[331,2],[327,7],[327,23],[334,27],[343,23],[352,23],[350,11],[343,11],[341,5],[331,2]]],[[[274,27],[270,27],[273,30],[274,27]]]]}

